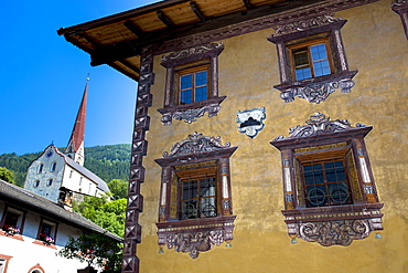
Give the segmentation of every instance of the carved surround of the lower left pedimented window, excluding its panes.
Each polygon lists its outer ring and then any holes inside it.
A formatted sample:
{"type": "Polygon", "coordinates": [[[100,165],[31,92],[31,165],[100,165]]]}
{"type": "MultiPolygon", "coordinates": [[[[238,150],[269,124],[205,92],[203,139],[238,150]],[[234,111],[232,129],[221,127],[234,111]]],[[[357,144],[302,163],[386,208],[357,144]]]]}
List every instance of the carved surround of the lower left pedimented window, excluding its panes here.
{"type": "Polygon", "coordinates": [[[159,204],[159,246],[168,245],[176,252],[187,252],[192,259],[223,242],[233,240],[234,220],[232,206],[229,157],[238,147],[221,144],[219,137],[194,133],[172,146],[171,153],[154,161],[162,167],[159,204]],[[179,220],[178,169],[216,167],[217,217],[179,220]],[[187,242],[187,243],[186,243],[187,242]]]}

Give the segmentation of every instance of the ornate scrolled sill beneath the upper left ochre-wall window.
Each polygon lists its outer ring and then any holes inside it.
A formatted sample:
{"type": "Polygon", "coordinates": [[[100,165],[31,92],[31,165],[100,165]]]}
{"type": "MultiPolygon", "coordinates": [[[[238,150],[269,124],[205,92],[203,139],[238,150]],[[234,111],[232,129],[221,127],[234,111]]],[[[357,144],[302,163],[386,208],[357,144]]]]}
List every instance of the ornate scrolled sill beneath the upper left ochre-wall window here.
{"type": "Polygon", "coordinates": [[[163,115],[161,122],[164,125],[171,125],[173,118],[191,124],[202,117],[205,112],[208,112],[208,117],[216,116],[221,109],[219,104],[225,98],[226,96],[212,97],[196,103],[160,108],[158,112],[163,115]]]}

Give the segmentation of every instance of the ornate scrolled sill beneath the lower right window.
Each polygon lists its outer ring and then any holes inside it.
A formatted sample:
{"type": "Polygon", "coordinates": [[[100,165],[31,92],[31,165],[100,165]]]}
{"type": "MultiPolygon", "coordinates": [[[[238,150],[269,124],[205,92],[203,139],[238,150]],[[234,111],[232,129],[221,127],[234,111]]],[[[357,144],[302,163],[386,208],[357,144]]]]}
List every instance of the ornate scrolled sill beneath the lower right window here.
{"type": "Polygon", "coordinates": [[[363,203],[282,210],[291,238],[318,242],[323,246],[350,245],[372,231],[383,230],[384,203],[363,203]]]}

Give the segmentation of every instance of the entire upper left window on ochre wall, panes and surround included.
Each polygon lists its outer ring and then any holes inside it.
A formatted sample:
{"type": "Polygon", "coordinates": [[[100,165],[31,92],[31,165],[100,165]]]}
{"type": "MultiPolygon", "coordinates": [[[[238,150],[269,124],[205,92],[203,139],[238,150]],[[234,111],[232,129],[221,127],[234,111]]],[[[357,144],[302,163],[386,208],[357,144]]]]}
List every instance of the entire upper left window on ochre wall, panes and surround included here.
{"type": "Polygon", "coordinates": [[[172,119],[193,123],[204,115],[216,116],[225,96],[218,96],[218,55],[223,43],[208,43],[162,56],[167,69],[163,108],[164,125],[172,119]]]}

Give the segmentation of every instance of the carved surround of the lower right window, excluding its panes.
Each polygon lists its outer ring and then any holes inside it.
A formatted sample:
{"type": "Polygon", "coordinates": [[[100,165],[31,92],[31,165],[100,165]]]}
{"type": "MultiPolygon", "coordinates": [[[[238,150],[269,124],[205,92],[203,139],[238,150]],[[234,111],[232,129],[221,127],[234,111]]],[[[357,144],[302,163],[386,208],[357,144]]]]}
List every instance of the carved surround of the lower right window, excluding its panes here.
{"type": "Polygon", "coordinates": [[[323,246],[350,245],[353,240],[367,238],[372,231],[383,230],[380,209],[364,137],[372,126],[356,124],[352,127],[346,119],[330,120],[321,113],[311,116],[307,125],[290,129],[290,136],[278,136],[270,141],[281,151],[284,222],[291,238],[319,242],[323,246]],[[351,181],[353,204],[305,208],[302,203],[302,181],[296,156],[336,150],[350,147],[355,168],[351,181]]]}

